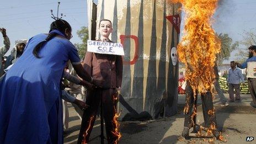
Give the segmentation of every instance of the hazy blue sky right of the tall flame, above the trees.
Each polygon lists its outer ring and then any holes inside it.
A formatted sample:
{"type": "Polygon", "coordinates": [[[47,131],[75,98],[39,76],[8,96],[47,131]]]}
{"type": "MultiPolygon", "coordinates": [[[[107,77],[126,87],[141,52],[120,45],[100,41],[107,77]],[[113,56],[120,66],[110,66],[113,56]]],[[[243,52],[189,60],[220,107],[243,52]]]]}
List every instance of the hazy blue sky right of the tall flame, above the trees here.
{"type": "MultiPolygon", "coordinates": [[[[244,31],[253,29],[255,31],[255,7],[255,0],[222,0],[214,17],[216,22],[213,28],[218,34],[228,34],[233,41],[242,41],[244,31]]],[[[239,44],[238,49],[247,51],[247,47],[242,44],[239,44]]],[[[239,58],[234,56],[236,53],[237,50],[233,51],[230,59],[224,62],[230,63],[230,61],[238,60],[239,58]]]]}

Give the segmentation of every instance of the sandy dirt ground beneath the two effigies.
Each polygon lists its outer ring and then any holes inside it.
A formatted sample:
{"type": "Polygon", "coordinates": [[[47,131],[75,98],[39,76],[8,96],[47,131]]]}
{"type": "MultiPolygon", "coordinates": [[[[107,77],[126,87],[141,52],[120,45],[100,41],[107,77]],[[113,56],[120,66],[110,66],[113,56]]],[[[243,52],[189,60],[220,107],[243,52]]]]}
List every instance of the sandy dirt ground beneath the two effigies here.
{"type": "MultiPolygon", "coordinates": [[[[226,95],[227,97],[227,95],[226,95]]],[[[218,99],[215,100],[215,109],[218,129],[222,129],[225,143],[256,143],[256,110],[250,105],[250,95],[242,95],[242,103],[231,103],[230,106],[220,106],[218,99]],[[253,136],[254,141],[247,142],[246,137],[253,136]]],[[[209,143],[210,138],[180,138],[183,130],[184,116],[183,97],[178,102],[178,114],[169,118],[150,121],[120,121],[122,137],[119,143],[209,143]]],[[[200,103],[200,102],[199,102],[200,103]]],[[[72,105],[70,110],[70,129],[66,132],[65,143],[76,143],[81,120],[79,120],[72,105]]],[[[201,105],[198,106],[198,124],[204,122],[201,105]]],[[[89,143],[100,143],[99,119],[95,122],[90,136],[93,139],[89,143]]],[[[212,139],[212,138],[211,138],[212,139]]],[[[105,143],[107,141],[105,140],[105,143]]],[[[211,143],[224,143],[214,140],[211,143]]]]}

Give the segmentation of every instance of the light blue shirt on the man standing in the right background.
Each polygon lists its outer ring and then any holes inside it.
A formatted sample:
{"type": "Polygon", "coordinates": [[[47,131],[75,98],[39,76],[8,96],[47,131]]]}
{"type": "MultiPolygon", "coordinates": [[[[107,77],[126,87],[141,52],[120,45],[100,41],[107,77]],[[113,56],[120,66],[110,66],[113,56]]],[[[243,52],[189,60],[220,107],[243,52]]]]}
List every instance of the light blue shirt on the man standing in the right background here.
{"type": "Polygon", "coordinates": [[[234,70],[230,68],[228,71],[227,82],[231,84],[239,84],[241,81],[244,82],[242,70],[237,67],[234,70]]]}

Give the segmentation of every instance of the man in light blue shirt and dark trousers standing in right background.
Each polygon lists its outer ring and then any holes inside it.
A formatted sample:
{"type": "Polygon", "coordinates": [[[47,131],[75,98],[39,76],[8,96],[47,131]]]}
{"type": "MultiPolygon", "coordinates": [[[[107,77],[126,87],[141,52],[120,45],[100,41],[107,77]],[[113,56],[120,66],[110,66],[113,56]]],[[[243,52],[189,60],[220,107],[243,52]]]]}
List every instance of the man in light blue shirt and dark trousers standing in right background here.
{"type": "Polygon", "coordinates": [[[234,61],[230,62],[230,70],[228,71],[228,92],[230,93],[230,102],[241,102],[240,97],[240,82],[244,83],[244,76],[242,74],[242,70],[236,67],[236,63],[234,61]],[[234,90],[236,92],[236,99],[234,99],[234,90]]]}

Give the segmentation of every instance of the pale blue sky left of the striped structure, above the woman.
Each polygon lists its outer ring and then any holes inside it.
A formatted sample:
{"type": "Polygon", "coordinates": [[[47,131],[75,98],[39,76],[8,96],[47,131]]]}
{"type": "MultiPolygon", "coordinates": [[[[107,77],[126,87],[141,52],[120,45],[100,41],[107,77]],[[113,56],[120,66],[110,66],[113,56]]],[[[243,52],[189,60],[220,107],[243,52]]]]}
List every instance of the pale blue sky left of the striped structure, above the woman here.
{"type": "MultiPolygon", "coordinates": [[[[8,0],[0,4],[0,27],[7,29],[11,47],[15,40],[29,39],[40,33],[48,33],[51,22],[50,10],[57,15],[57,0],[8,0]]],[[[59,13],[63,13],[72,26],[73,38],[71,42],[82,42],[76,31],[82,26],[87,26],[87,2],[86,0],[61,0],[59,13]]],[[[60,15],[60,14],[59,14],[60,15]]],[[[0,38],[2,45],[2,38],[0,38]]],[[[10,51],[10,50],[9,50],[10,51]]],[[[9,52],[8,52],[9,54],[9,52]]]]}

